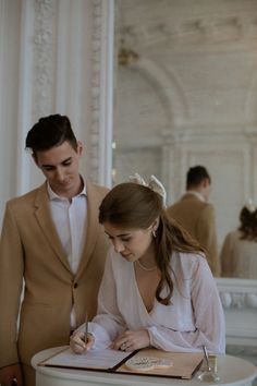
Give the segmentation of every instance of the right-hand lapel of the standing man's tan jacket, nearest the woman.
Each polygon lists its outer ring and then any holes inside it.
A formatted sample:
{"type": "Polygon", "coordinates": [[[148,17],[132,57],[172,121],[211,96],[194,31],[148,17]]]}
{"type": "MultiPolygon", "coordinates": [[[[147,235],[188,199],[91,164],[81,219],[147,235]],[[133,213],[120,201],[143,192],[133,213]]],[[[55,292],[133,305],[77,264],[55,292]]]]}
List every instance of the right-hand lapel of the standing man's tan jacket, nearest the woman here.
{"type": "Polygon", "coordinates": [[[90,182],[86,182],[87,190],[87,232],[86,232],[86,242],[83,249],[81,263],[77,269],[76,277],[78,278],[86,269],[89,261],[93,257],[93,252],[98,239],[98,233],[100,231],[100,225],[98,222],[98,213],[99,205],[102,200],[102,193],[99,194],[99,191],[90,182]]]}

